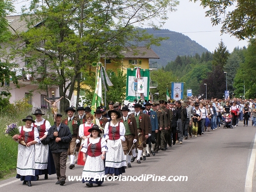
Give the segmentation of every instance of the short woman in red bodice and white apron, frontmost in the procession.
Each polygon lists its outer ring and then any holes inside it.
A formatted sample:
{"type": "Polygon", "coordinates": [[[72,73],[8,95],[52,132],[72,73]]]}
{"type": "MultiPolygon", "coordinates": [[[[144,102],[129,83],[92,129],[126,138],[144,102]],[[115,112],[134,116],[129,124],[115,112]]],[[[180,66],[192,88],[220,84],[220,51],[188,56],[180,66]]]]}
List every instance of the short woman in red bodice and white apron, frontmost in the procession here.
{"type": "Polygon", "coordinates": [[[93,125],[88,132],[90,132],[90,137],[84,140],[81,149],[85,162],[82,182],[87,181],[86,186],[88,187],[93,187],[93,183],[101,186],[105,177],[103,160],[106,157],[107,143],[100,137],[102,130],[98,125],[93,125]]]}

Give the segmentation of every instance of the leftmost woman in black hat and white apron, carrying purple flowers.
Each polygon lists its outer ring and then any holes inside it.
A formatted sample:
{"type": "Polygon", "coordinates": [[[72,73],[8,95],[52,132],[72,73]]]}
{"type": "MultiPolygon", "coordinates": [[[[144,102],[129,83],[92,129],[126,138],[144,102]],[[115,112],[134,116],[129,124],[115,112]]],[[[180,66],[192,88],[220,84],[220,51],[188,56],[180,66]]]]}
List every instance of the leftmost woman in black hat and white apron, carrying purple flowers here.
{"type": "Polygon", "coordinates": [[[32,125],[32,116],[26,116],[22,119],[26,123],[25,126],[20,126],[20,135],[14,135],[12,138],[17,142],[19,137],[22,137],[26,146],[18,145],[18,157],[17,157],[17,175],[16,178],[23,180],[23,185],[28,183],[31,185],[32,180],[37,180],[35,176],[35,144],[40,143],[39,134],[37,128],[32,125]]]}

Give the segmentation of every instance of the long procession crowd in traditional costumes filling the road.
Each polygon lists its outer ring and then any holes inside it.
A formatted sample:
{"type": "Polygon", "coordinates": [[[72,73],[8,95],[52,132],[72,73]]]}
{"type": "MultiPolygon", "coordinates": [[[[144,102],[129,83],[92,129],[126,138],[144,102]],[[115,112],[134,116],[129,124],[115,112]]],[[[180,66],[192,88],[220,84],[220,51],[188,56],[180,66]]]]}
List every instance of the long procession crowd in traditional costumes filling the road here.
{"type": "MultiPolygon", "coordinates": [[[[67,159],[69,169],[77,163],[84,166],[83,183],[101,186],[104,180],[94,179],[108,175],[118,176],[158,151],[182,144],[189,137],[200,137],[205,131],[221,127],[225,115],[230,114],[230,128],[239,121],[248,126],[251,118],[256,127],[256,101],[236,99],[202,99],[151,102],[134,100],[132,111],[118,102],[109,102],[91,114],[90,107],[66,109],[67,117],[55,115],[54,125],[36,109],[32,116],[23,119],[19,127],[25,145],[18,145],[17,178],[23,185],[44,175],[57,175],[56,184],[66,183],[67,159]],[[77,115],[75,115],[77,111],[77,115]],[[231,118],[232,116],[232,118],[231,118]],[[76,162],[75,162],[76,160],[76,162]],[[90,178],[90,180],[87,180],[90,178]]],[[[20,135],[13,136],[15,141],[20,135]]]]}

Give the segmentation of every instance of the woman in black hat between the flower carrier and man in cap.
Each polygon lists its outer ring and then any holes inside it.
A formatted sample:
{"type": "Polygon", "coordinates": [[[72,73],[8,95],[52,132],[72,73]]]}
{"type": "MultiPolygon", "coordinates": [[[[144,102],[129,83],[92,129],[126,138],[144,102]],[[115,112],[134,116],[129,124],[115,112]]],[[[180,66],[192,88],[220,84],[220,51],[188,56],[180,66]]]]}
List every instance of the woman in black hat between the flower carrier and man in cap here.
{"type": "MultiPolygon", "coordinates": [[[[37,128],[40,141],[47,137],[49,128],[51,127],[49,121],[45,120],[42,115],[41,109],[36,109],[35,113],[35,123],[33,126],[37,128]]],[[[55,166],[52,157],[52,153],[49,149],[49,145],[44,145],[42,143],[35,144],[35,175],[37,180],[39,175],[44,175],[44,179],[48,179],[48,174],[55,174],[55,166]]]]}

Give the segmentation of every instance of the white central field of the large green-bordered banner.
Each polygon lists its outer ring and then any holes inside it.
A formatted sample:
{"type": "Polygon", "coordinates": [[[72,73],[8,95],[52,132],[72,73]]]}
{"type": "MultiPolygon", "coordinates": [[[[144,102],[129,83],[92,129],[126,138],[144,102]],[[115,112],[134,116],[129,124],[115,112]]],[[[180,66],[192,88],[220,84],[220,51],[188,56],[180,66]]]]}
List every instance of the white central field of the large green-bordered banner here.
{"type": "Polygon", "coordinates": [[[137,82],[134,79],[134,76],[129,76],[128,78],[128,96],[140,96],[140,93],[144,93],[145,97],[148,96],[148,87],[145,86],[145,84],[148,84],[148,77],[137,79],[137,82]]]}

